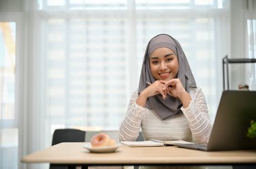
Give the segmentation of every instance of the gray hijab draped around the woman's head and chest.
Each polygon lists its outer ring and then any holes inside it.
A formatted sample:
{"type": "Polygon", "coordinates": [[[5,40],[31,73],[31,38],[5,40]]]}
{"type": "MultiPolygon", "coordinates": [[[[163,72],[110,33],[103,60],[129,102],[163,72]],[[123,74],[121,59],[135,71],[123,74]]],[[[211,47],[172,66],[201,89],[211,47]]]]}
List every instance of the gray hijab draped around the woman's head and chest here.
{"type": "MultiPolygon", "coordinates": [[[[156,81],[150,71],[150,56],[154,50],[162,47],[169,48],[177,55],[179,60],[179,72],[177,78],[181,80],[185,90],[188,91],[189,87],[196,88],[197,85],[195,84],[194,76],[181,45],[171,36],[160,34],[152,38],[146,48],[139,79],[138,93],[140,94],[146,87],[148,87],[146,82],[153,83],[156,81]]],[[[147,99],[146,107],[148,109],[153,109],[161,119],[165,119],[181,112],[182,103],[179,99],[170,95],[167,95],[166,99],[162,99],[162,95],[158,94],[147,99]]]]}

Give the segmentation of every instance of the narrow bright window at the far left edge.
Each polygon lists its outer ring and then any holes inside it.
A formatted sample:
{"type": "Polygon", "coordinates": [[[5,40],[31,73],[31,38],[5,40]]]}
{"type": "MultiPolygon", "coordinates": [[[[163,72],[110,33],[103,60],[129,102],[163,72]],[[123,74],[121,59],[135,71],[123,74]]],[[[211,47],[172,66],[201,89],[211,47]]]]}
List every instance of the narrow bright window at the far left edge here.
{"type": "Polygon", "coordinates": [[[0,21],[0,168],[17,168],[18,115],[15,114],[15,22],[0,21]]]}

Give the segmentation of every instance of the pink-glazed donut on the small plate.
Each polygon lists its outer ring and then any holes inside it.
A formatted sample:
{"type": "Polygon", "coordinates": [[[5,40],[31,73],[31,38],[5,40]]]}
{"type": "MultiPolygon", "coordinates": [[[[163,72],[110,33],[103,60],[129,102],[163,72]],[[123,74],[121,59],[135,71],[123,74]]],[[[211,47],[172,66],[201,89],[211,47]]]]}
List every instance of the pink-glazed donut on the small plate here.
{"type": "Polygon", "coordinates": [[[108,146],[110,138],[105,133],[98,133],[91,139],[91,145],[94,148],[108,146]]]}

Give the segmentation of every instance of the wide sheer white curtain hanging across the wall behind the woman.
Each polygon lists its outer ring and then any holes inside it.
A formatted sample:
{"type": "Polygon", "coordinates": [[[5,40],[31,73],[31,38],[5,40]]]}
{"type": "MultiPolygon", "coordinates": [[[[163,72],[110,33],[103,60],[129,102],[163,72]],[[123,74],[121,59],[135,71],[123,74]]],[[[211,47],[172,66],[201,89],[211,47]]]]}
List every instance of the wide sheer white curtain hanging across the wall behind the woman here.
{"type": "MultiPolygon", "coordinates": [[[[57,128],[118,129],[137,87],[146,45],[157,34],[181,42],[214,121],[222,92],[221,60],[229,47],[227,2],[23,2],[13,103],[19,157],[18,164],[8,159],[10,168],[48,168],[20,164],[20,158],[51,146],[57,128]]],[[[0,127],[3,135],[5,127],[0,127]]]]}

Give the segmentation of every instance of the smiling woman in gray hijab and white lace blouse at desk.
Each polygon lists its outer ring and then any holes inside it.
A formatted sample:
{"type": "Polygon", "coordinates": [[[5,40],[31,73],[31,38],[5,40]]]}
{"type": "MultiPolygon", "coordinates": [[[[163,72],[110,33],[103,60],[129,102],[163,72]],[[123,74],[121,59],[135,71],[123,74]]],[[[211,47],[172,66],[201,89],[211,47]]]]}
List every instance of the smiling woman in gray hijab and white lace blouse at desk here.
{"type": "Polygon", "coordinates": [[[166,34],[148,43],[139,89],[120,126],[121,141],[177,140],[206,144],[212,124],[203,92],[177,40],[166,34]]]}

